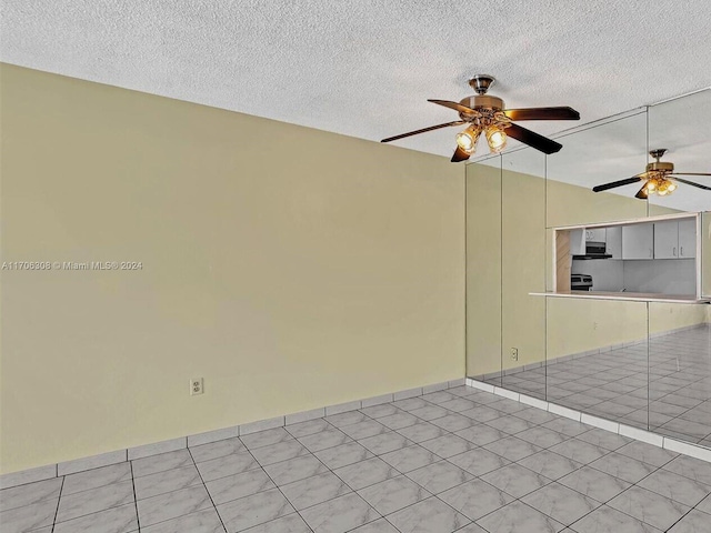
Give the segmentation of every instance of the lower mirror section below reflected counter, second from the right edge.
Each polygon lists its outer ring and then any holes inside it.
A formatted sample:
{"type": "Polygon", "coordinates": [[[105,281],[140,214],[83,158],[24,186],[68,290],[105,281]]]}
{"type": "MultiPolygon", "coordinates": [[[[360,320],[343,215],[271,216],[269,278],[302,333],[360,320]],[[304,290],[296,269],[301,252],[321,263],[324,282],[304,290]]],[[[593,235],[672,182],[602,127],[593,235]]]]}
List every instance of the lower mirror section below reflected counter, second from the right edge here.
{"type": "Polygon", "coordinates": [[[548,401],[647,429],[647,303],[547,301],[548,401]]]}

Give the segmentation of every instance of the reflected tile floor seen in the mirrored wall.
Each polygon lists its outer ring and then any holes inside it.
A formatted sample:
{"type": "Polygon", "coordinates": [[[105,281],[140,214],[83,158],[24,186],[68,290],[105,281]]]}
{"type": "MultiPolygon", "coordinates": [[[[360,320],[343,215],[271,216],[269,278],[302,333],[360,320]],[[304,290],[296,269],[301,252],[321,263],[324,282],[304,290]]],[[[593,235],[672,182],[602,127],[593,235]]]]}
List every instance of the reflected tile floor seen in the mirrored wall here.
{"type": "Polygon", "coordinates": [[[711,447],[711,328],[487,382],[711,447]]]}

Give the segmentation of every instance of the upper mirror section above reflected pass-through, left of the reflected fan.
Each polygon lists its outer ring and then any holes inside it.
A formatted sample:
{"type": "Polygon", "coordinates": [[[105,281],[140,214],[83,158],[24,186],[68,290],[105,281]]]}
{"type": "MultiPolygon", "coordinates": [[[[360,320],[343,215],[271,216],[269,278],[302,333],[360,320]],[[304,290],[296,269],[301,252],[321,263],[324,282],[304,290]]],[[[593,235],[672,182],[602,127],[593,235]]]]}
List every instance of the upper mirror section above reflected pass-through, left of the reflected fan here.
{"type": "Polygon", "coordinates": [[[639,185],[592,191],[595,185],[633,177],[644,169],[645,110],[573,131],[557,140],[563,149],[548,158],[548,228],[647,217],[647,202],[634,198],[639,185]]]}

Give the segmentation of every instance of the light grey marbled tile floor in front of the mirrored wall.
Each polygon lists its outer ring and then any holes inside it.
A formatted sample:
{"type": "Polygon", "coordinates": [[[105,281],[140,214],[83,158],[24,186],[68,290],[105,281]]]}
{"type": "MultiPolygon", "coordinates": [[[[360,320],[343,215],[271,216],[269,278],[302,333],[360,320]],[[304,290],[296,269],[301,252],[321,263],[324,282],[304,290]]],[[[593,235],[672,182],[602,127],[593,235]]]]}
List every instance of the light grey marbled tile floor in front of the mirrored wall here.
{"type": "Polygon", "coordinates": [[[0,492],[3,533],[690,533],[711,463],[468,386],[0,492]]]}

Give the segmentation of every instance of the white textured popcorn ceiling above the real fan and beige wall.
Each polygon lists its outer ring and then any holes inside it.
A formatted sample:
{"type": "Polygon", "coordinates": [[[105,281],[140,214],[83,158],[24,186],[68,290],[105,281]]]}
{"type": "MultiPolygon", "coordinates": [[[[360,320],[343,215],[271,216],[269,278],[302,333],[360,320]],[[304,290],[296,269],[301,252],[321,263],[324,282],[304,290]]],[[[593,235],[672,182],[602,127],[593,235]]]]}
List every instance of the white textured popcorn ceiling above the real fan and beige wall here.
{"type": "Polygon", "coordinates": [[[0,34],[9,63],[370,140],[454,120],[427,99],[474,73],[582,122],[711,86],[708,0],[3,0],[0,34]]]}

